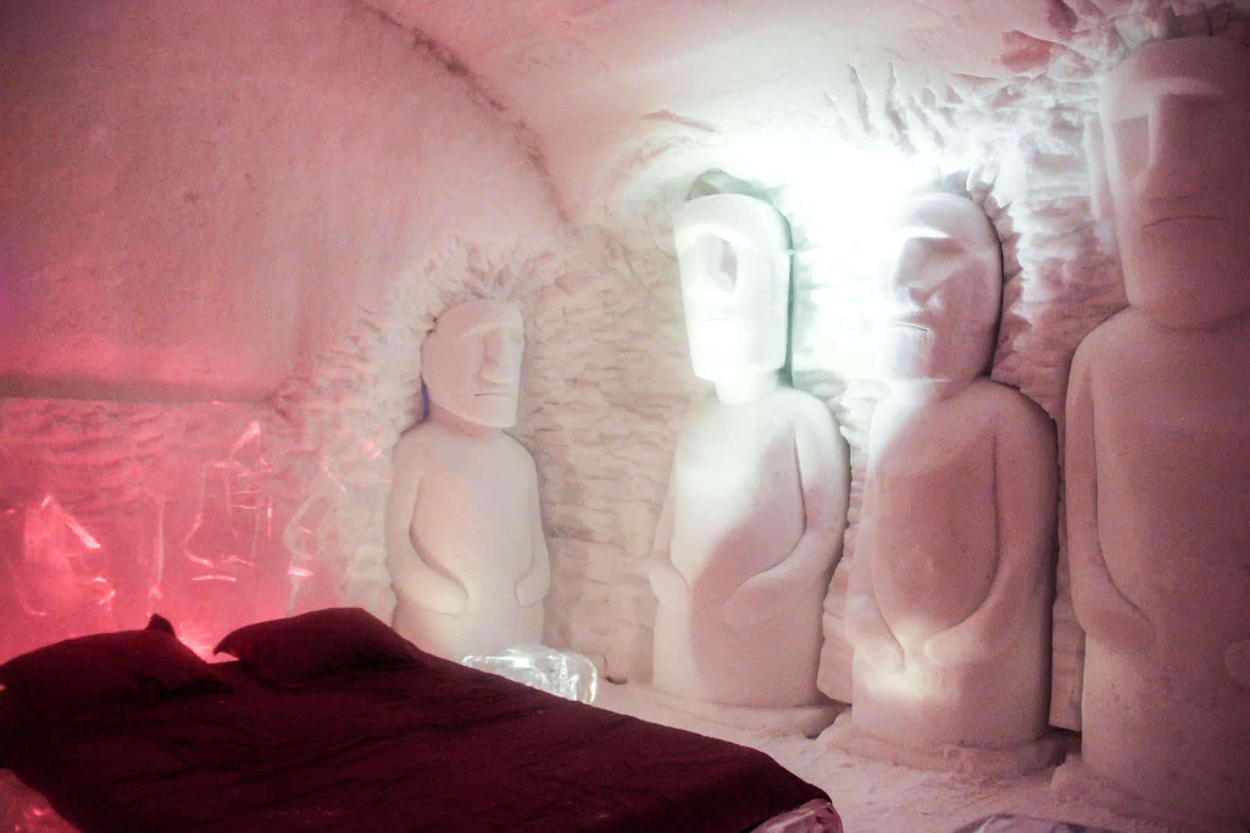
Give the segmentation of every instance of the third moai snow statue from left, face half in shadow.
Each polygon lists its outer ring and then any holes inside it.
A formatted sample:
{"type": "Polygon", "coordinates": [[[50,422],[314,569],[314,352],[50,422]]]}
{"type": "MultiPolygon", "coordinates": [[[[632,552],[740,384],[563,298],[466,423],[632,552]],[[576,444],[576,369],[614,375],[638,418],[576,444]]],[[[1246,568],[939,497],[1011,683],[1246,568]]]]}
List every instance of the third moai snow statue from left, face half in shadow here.
{"type": "Polygon", "coordinates": [[[918,197],[898,232],[846,596],[850,723],[900,746],[1019,747],[1049,711],[1054,426],[982,375],[1002,270],[981,209],[918,197]]]}

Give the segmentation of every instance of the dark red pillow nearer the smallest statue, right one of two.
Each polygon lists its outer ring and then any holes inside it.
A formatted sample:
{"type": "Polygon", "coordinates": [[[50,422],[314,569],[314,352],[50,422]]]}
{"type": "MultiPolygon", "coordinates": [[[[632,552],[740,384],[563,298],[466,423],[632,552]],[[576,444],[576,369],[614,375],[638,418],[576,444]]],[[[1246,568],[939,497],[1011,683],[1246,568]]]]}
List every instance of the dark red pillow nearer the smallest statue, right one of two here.
{"type": "Polygon", "coordinates": [[[411,662],[421,651],[359,607],[331,607],[245,624],[212,649],[272,686],[296,686],[340,668],[411,662]]]}

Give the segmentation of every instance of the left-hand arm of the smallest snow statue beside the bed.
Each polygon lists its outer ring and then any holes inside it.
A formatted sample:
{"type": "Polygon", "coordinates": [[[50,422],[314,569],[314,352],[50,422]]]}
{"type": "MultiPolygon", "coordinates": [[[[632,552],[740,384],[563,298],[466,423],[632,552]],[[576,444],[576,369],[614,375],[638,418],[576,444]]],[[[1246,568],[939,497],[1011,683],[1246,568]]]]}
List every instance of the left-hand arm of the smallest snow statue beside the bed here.
{"type": "Polygon", "coordinates": [[[425,563],[412,546],[412,516],[425,476],[425,448],[409,432],[395,443],[391,460],[394,471],[386,500],[386,568],[391,587],[401,601],[436,613],[459,613],[469,599],[465,588],[425,563]]]}

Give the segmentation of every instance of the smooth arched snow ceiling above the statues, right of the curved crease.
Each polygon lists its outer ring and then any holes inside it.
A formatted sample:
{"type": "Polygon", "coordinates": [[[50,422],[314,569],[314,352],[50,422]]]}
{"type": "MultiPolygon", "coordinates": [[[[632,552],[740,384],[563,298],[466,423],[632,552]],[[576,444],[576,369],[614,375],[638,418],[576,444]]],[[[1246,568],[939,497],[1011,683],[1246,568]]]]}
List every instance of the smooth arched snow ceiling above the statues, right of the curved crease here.
{"type": "Polygon", "coordinates": [[[782,109],[855,111],[891,89],[1006,79],[1044,66],[1079,14],[1098,11],[1091,0],[362,1],[524,122],[574,219],[614,196],[631,154],[659,152],[645,145],[656,122],[698,147],[782,109]]]}

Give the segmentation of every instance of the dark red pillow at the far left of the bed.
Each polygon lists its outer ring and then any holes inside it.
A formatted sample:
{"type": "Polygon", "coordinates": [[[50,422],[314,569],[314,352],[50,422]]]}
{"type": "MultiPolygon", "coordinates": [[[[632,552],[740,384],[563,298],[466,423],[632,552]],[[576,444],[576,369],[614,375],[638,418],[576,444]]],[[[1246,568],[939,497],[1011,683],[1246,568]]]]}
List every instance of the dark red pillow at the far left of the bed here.
{"type": "Polygon", "coordinates": [[[209,663],[179,642],[169,621],[159,616],[142,631],[65,639],[0,666],[0,683],[8,691],[30,706],[54,712],[156,699],[216,682],[209,663]]]}

